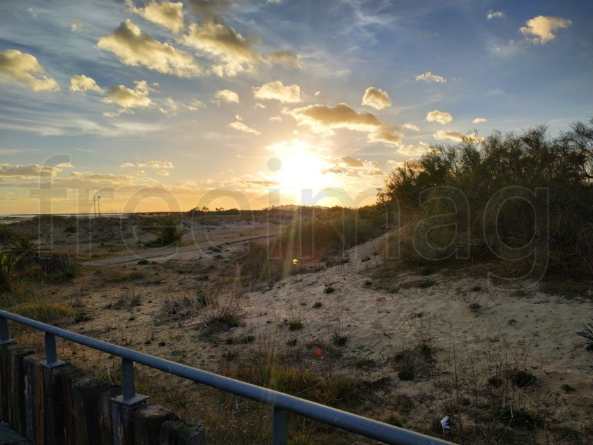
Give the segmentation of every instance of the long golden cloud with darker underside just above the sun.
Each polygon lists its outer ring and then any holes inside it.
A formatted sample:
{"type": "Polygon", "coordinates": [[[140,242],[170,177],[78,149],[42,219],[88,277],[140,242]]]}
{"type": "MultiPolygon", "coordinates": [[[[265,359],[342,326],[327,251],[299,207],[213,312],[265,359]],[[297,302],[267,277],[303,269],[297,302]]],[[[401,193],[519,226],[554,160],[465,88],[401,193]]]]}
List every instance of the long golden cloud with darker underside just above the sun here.
{"type": "Polygon", "coordinates": [[[387,125],[372,113],[355,112],[345,103],[335,107],[309,105],[285,113],[293,116],[299,125],[309,126],[315,133],[333,135],[333,130],[346,128],[368,133],[370,142],[387,144],[397,144],[401,138],[397,127],[387,125]]]}

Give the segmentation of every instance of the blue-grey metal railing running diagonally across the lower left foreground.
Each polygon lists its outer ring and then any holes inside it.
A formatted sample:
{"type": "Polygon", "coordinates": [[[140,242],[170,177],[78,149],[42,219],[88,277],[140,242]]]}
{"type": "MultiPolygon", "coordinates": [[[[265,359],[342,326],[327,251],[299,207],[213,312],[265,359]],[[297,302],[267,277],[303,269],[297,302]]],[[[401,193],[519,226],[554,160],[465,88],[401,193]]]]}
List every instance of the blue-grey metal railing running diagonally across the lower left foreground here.
{"type": "Polygon", "coordinates": [[[187,365],[181,365],[169,360],[160,359],[149,354],[134,351],[126,347],[113,345],[90,338],[85,335],[66,331],[65,329],[51,326],[35,320],[15,315],[11,312],[0,310],[0,345],[6,345],[13,342],[8,333],[8,320],[24,324],[38,331],[45,332],[45,361],[41,362],[47,368],[55,368],[64,362],[59,361],[56,352],[55,337],[64,338],[106,352],[121,359],[121,387],[122,394],[115,400],[124,405],[135,405],[147,399],[147,396],[137,394],[134,384],[134,363],[149,366],[168,374],[191,380],[195,383],[211,386],[212,388],[226,391],[234,395],[256,400],[271,407],[271,429],[272,441],[274,445],[285,445],[287,443],[286,434],[286,412],[299,414],[300,416],[311,418],[315,421],[332,425],[342,430],[354,432],[370,439],[379,440],[385,444],[394,445],[437,445],[451,444],[442,439],[422,435],[418,432],[412,432],[403,428],[398,428],[386,423],[374,421],[370,418],[358,416],[348,412],[341,411],[319,403],[303,400],[293,395],[279,393],[271,389],[262,388],[245,382],[239,382],[229,377],[223,377],[211,372],[191,368],[187,365]]]}

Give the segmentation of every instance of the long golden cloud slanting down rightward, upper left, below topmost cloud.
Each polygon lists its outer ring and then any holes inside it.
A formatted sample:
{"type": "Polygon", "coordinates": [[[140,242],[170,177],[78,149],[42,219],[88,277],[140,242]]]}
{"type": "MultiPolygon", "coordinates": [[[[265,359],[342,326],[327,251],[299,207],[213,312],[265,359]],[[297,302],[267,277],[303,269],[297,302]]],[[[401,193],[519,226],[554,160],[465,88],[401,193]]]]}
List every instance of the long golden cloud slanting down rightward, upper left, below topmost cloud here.
{"type": "Polygon", "coordinates": [[[193,77],[203,72],[193,56],[151,38],[129,19],[121,22],[110,35],[100,38],[97,46],[115,54],[124,65],[146,66],[179,77],[193,77]]]}

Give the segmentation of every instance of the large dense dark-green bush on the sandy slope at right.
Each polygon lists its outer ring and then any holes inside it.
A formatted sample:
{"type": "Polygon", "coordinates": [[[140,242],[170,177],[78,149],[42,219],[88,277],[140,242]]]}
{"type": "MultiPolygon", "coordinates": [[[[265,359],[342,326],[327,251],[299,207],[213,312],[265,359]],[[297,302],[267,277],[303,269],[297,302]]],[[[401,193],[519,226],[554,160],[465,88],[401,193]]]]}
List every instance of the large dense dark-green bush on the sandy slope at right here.
{"type": "Polygon", "coordinates": [[[477,257],[504,258],[509,278],[532,270],[534,278],[544,272],[592,276],[592,146],[593,119],[556,137],[537,126],[520,135],[495,132],[431,146],[416,165],[392,172],[379,194],[403,219],[384,259],[426,267],[465,259],[471,246],[477,257]],[[538,188],[548,196],[527,202],[520,194],[530,197],[538,188]]]}

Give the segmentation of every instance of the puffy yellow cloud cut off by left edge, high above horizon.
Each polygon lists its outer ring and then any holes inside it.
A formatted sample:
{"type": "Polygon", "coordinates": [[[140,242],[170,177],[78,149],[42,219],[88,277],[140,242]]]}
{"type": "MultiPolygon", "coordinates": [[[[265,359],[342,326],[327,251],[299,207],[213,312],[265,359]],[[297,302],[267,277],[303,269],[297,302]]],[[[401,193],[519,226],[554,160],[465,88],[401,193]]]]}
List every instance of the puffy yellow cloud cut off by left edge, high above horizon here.
{"type": "Polygon", "coordinates": [[[57,91],[60,89],[52,77],[43,74],[35,56],[18,50],[0,52],[0,80],[29,86],[33,91],[57,91]]]}

